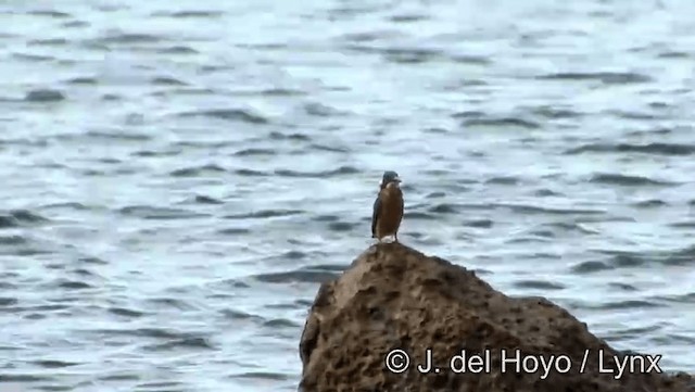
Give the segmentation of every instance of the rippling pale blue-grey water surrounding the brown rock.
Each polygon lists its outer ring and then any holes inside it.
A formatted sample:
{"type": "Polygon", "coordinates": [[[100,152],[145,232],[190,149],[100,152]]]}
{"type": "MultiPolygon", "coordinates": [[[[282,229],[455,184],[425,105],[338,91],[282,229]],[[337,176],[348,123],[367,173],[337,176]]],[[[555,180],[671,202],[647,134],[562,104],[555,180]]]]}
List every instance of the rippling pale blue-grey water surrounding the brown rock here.
{"type": "Polygon", "coordinates": [[[5,1],[0,389],[294,391],[399,238],[695,371],[695,3],[5,1]]]}

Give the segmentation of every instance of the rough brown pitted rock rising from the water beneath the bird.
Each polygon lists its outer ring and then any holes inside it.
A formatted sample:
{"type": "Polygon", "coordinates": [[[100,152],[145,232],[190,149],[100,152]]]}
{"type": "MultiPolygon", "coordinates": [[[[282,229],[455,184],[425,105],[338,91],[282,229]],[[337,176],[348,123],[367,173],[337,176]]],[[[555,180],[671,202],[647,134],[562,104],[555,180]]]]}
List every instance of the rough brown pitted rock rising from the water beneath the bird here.
{"type": "MultiPolygon", "coordinates": [[[[368,249],[339,279],[318,290],[300,342],[303,371],[299,390],[695,391],[694,379],[685,374],[667,376],[652,369],[616,377],[617,372],[602,372],[616,369],[615,357],[626,355],[543,298],[509,298],[464,267],[402,244],[382,243],[368,249]],[[409,367],[400,374],[386,368],[386,356],[394,349],[409,356],[409,367]],[[431,349],[439,374],[418,371],[417,366],[426,364],[426,349],[431,349]],[[462,350],[469,366],[467,372],[455,374],[450,358],[462,350]],[[534,358],[555,362],[547,375],[540,363],[535,374],[516,371],[515,350],[527,365],[533,365],[534,358]],[[484,364],[489,368],[472,372],[484,364]],[[556,365],[569,370],[560,372],[556,365]]],[[[644,365],[644,370],[649,368],[646,357],[627,357],[635,366],[644,365]]],[[[453,365],[460,367],[460,363],[457,359],[453,365]]]]}

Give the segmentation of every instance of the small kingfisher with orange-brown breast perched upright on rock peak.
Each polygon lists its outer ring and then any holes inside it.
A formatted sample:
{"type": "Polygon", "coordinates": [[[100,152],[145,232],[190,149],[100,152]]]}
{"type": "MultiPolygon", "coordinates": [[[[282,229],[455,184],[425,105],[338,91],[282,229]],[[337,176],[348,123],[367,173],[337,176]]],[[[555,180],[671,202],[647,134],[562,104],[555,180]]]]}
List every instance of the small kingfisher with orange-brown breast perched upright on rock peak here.
{"type": "Polygon", "coordinates": [[[379,194],[374,202],[371,213],[371,238],[379,242],[384,237],[393,236],[399,242],[399,227],[403,220],[403,192],[401,178],[393,170],[383,173],[379,186],[379,194]]]}

